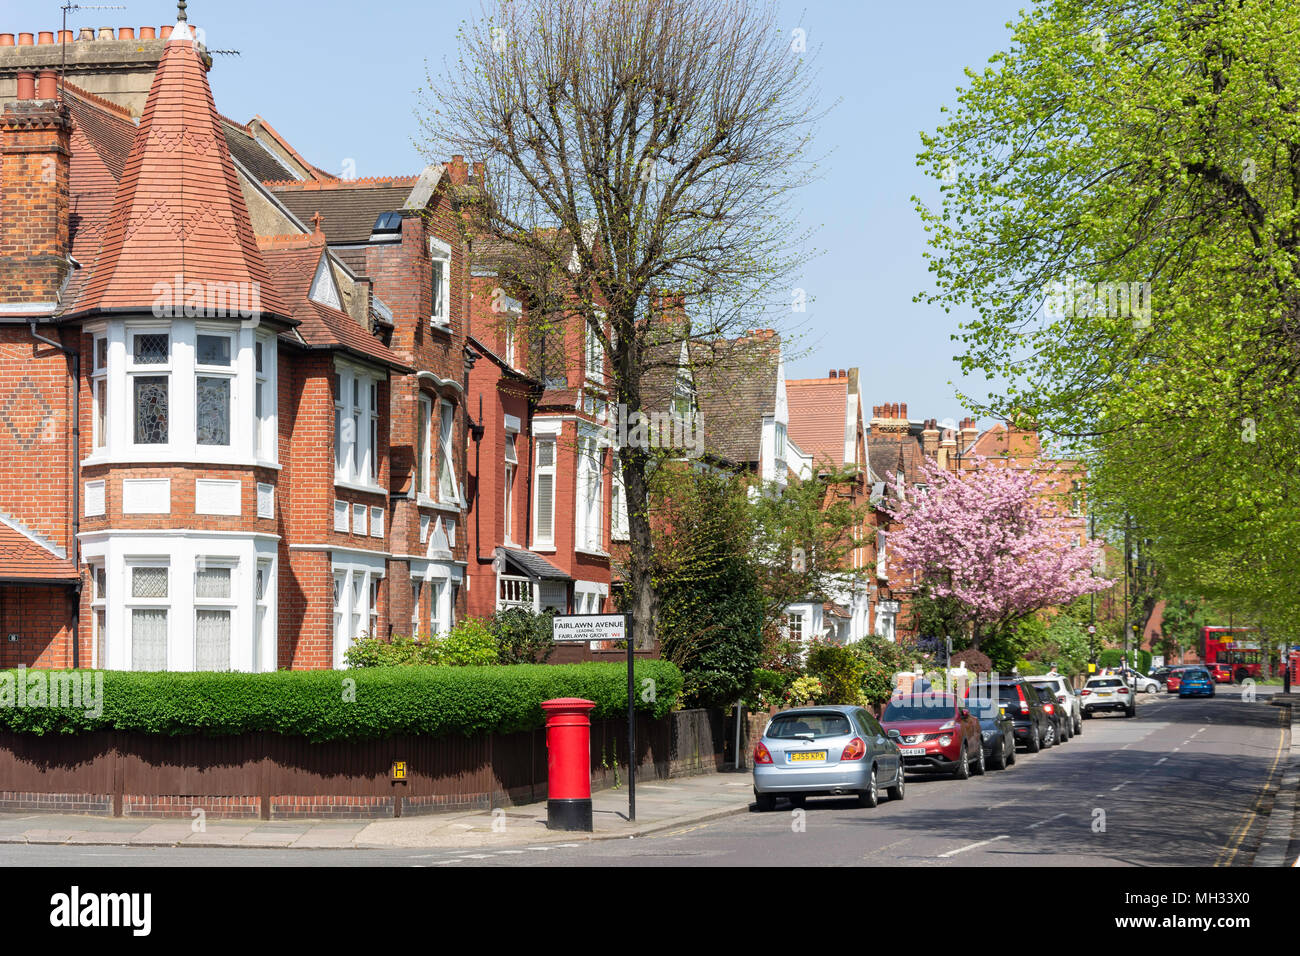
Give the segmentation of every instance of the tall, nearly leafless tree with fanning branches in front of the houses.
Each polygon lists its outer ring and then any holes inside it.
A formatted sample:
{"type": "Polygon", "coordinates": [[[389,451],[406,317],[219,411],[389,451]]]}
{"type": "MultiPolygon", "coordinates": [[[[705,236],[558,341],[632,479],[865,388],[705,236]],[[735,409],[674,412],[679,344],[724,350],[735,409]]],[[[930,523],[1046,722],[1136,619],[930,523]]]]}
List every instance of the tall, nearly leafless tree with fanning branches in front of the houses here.
{"type": "MultiPolygon", "coordinates": [[[[820,114],[803,31],[779,25],[770,0],[485,5],[422,109],[430,155],[486,164],[476,228],[563,287],[628,415],[673,352],[655,346],[712,343],[790,313],[809,238],[790,199],[815,170],[820,114]],[[689,325],[650,308],[656,291],[685,297],[689,325]]],[[[650,458],[620,449],[640,645],[656,611],[650,458]]]]}

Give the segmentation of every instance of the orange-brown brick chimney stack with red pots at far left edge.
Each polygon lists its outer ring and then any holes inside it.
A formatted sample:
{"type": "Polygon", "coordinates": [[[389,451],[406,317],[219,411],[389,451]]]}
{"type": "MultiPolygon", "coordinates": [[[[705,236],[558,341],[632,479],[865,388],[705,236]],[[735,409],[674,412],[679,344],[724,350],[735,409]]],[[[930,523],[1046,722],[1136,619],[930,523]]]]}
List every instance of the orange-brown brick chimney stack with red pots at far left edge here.
{"type": "Polygon", "coordinates": [[[72,269],[68,259],[68,140],[72,122],[53,70],[18,74],[18,99],[0,116],[0,297],[53,303],[72,269]]]}

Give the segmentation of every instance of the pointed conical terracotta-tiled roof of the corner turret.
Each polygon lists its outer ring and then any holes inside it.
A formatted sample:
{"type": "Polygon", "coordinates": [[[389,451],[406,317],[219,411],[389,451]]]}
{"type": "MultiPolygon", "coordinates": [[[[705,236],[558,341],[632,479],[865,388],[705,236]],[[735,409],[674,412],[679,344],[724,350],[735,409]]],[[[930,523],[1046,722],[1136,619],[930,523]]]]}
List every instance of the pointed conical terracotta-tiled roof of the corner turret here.
{"type": "Polygon", "coordinates": [[[212,90],[188,29],[172,34],[126,160],[78,311],[151,308],[155,285],[246,284],[286,315],[266,281],[212,90]],[[254,286],[252,284],[256,284],[254,286]]]}

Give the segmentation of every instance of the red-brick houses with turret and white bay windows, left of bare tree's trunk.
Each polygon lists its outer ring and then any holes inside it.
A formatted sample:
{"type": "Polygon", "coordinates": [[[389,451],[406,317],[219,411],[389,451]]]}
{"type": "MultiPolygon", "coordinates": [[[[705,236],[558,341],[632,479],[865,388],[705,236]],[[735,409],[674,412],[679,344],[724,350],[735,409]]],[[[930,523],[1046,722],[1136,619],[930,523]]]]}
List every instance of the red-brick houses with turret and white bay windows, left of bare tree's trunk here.
{"type": "Polygon", "coordinates": [[[482,166],[338,178],[211,66],[183,20],[0,34],[0,666],[607,607],[603,356],[474,248],[482,166]]]}

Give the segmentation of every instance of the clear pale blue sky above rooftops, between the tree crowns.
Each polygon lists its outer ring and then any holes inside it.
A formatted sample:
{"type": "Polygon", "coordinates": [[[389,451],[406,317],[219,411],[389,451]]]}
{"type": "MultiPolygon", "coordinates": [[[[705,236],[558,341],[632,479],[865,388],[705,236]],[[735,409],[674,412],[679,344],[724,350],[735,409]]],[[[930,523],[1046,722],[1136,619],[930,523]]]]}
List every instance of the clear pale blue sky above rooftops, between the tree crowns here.
{"type": "MultiPolygon", "coordinates": [[[[919,133],[956,103],[963,69],[1008,46],[1006,23],[1030,0],[814,0],[780,5],[815,55],[826,105],[818,130],[823,176],[798,198],[822,250],[797,278],[807,312],[788,377],[861,369],[863,403],[906,402],[911,418],[959,419],[961,378],[950,341],[962,315],[914,303],[932,287],[926,235],[911,196],[935,183],[915,165],[919,133]]],[[[209,74],[217,109],[264,117],[308,161],[329,172],[419,172],[417,91],[456,56],[456,29],[478,0],[334,3],[192,0],[190,23],[218,55],[209,74]]],[[[0,0],[0,31],[58,29],[57,0],[0,0]],[[40,12],[46,12],[42,16],[40,12]],[[42,20],[42,22],[36,22],[42,20]]],[[[125,10],[74,10],[69,27],[172,23],[176,4],[129,0],[125,10]]],[[[984,421],[987,424],[987,420],[984,421]]]]}

